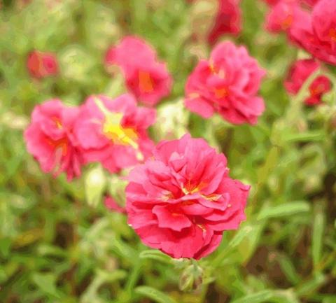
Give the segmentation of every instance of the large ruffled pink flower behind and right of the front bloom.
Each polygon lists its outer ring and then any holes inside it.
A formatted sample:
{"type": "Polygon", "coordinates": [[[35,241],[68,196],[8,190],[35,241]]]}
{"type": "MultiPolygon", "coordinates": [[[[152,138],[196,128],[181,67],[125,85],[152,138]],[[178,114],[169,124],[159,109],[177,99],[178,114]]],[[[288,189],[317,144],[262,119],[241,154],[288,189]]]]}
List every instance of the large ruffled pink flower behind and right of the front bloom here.
{"type": "Polygon", "coordinates": [[[255,124],[265,109],[256,94],[265,71],[244,46],[220,43],[201,60],[186,84],[186,106],[203,118],[217,111],[233,124],[255,124]]]}

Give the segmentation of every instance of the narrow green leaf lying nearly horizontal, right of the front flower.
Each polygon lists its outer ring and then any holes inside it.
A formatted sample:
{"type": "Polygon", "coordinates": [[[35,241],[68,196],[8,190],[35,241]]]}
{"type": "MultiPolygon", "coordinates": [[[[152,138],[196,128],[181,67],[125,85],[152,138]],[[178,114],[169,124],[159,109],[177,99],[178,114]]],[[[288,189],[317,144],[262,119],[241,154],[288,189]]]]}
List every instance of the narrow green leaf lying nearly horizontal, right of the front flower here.
{"type": "Polygon", "coordinates": [[[297,213],[304,213],[310,210],[310,205],[304,201],[288,202],[281,205],[262,209],[258,214],[258,220],[268,218],[279,218],[283,216],[293,216],[297,213]]]}

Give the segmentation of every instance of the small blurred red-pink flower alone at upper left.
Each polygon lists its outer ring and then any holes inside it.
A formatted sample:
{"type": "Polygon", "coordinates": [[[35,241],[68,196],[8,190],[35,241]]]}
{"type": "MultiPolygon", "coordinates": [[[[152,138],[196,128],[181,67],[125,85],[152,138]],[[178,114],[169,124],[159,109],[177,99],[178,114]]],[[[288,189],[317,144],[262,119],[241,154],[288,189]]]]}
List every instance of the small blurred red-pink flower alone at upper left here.
{"type": "Polygon", "coordinates": [[[58,73],[57,58],[52,52],[34,50],[28,55],[27,69],[34,78],[55,76],[58,73]]]}

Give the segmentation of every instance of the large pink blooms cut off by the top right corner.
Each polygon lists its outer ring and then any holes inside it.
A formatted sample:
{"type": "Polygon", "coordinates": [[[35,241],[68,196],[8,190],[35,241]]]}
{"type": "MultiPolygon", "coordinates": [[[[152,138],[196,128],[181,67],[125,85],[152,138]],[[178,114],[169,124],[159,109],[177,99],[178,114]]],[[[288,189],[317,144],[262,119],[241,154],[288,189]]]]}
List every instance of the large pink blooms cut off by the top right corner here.
{"type": "Polygon", "coordinates": [[[316,59],[336,65],[336,0],[272,1],[269,31],[286,31],[290,41],[316,59]]]}

